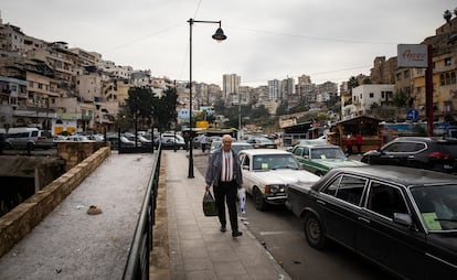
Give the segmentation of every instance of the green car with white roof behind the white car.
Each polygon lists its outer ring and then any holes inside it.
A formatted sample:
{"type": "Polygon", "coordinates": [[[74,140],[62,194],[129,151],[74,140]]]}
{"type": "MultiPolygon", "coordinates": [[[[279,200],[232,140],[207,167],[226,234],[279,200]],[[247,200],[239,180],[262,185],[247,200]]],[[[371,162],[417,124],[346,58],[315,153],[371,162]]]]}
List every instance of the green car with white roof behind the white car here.
{"type": "Polygon", "coordinates": [[[363,162],[350,160],[339,146],[333,144],[298,144],[291,153],[300,162],[301,168],[322,176],[329,170],[343,166],[366,165],[363,162]]]}

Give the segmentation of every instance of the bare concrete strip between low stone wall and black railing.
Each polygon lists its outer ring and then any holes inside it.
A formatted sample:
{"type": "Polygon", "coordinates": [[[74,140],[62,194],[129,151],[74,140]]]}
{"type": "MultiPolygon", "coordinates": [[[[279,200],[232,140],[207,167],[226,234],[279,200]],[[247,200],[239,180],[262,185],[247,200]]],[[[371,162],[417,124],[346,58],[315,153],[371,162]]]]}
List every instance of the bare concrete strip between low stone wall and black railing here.
{"type": "Polygon", "coordinates": [[[156,157],[111,153],[0,259],[0,279],[121,279],[156,157]]]}

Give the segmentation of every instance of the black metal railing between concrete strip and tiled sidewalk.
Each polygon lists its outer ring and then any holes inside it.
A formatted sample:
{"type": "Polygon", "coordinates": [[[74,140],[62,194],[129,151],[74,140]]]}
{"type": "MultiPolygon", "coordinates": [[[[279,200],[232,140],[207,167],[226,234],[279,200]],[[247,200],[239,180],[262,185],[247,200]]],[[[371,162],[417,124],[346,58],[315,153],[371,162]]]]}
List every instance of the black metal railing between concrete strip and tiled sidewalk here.
{"type": "Polygon", "coordinates": [[[141,205],[140,216],[124,269],[124,280],[149,279],[149,256],[152,250],[152,226],[156,223],[156,202],[159,187],[161,146],[157,150],[148,190],[141,205]]]}

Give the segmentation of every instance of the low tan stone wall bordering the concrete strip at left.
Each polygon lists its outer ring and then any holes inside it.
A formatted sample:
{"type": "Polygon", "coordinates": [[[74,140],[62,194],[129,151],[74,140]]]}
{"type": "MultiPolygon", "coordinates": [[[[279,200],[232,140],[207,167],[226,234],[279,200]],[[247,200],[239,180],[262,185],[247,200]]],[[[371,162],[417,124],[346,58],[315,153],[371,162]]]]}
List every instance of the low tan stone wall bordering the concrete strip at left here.
{"type": "MultiPolygon", "coordinates": [[[[77,149],[83,154],[93,148],[79,147],[77,149]]],[[[43,190],[3,215],[0,218],[0,258],[39,225],[110,153],[109,146],[98,149],[43,190]]]]}

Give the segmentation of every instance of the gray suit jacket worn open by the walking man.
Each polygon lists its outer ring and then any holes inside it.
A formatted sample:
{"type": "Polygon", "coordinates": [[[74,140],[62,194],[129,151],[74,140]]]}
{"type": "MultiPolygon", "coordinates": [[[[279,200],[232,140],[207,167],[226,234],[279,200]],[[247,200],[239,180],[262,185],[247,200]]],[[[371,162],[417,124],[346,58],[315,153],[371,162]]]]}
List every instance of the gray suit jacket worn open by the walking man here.
{"type": "MultiPolygon", "coordinates": [[[[233,174],[235,175],[237,187],[241,187],[243,184],[243,175],[241,172],[240,159],[233,150],[231,151],[233,157],[233,174]]],[[[210,158],[206,176],[204,177],[206,185],[219,185],[222,173],[222,148],[217,149],[210,158]]]]}

